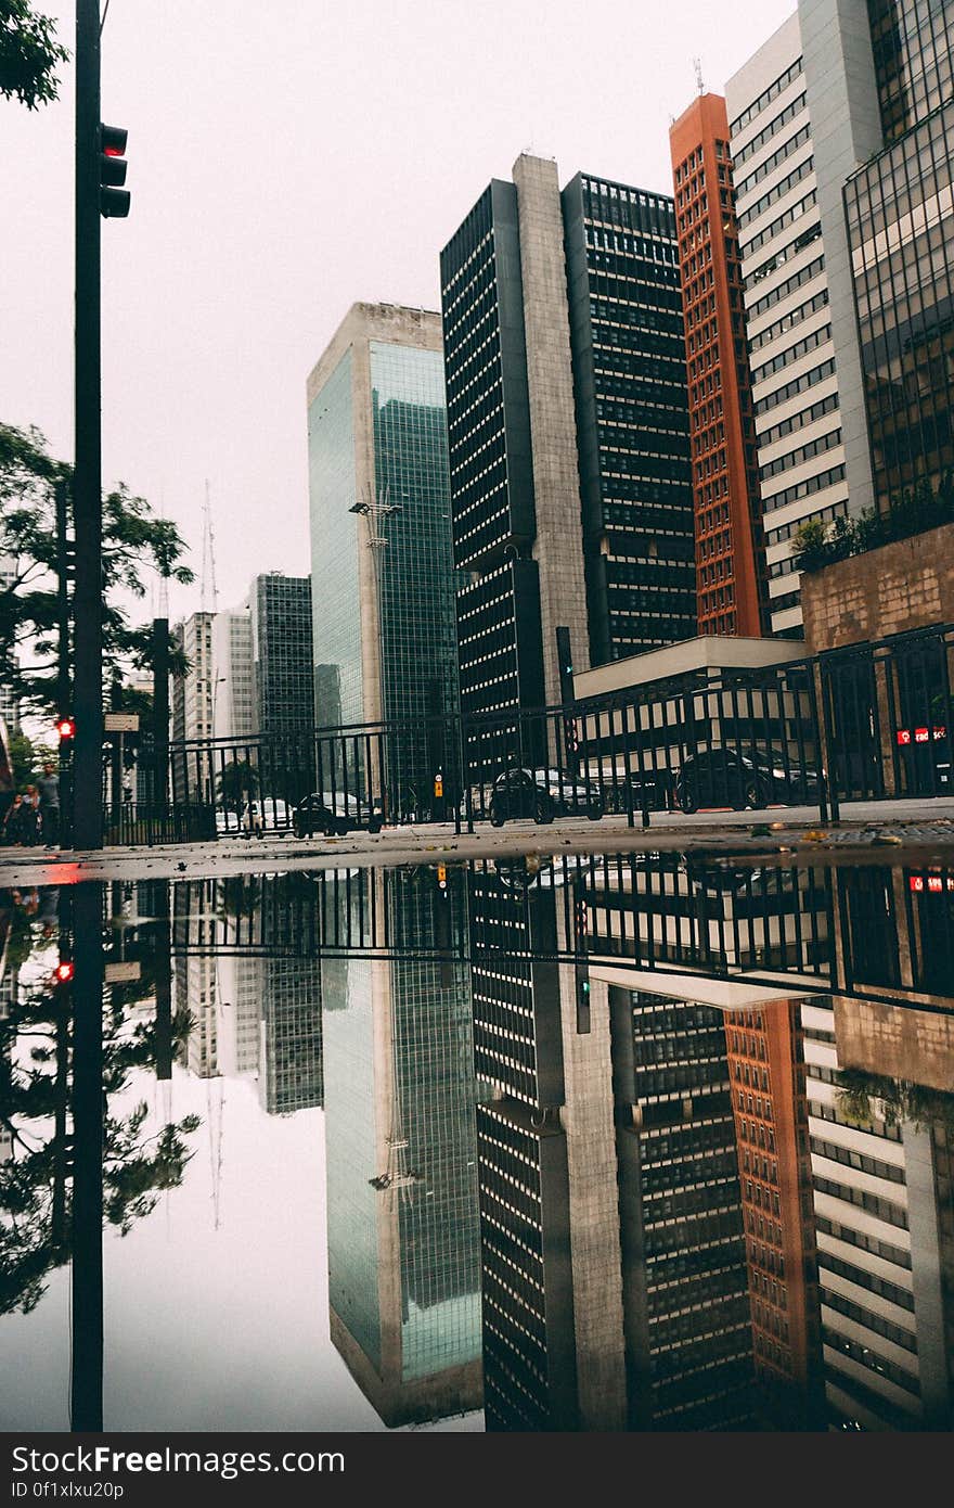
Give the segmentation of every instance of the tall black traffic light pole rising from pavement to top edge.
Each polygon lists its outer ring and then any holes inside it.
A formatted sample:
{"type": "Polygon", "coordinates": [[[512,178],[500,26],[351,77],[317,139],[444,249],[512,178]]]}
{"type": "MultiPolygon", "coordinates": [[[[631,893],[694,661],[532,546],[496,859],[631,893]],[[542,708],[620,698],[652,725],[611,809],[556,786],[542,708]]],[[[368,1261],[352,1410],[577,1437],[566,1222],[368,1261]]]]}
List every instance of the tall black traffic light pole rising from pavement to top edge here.
{"type": "Polygon", "coordinates": [[[99,0],[77,0],[74,843],[102,847],[102,457],[99,369],[99,0]]]}

